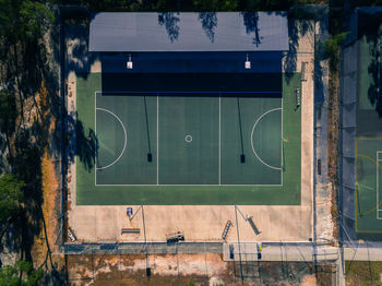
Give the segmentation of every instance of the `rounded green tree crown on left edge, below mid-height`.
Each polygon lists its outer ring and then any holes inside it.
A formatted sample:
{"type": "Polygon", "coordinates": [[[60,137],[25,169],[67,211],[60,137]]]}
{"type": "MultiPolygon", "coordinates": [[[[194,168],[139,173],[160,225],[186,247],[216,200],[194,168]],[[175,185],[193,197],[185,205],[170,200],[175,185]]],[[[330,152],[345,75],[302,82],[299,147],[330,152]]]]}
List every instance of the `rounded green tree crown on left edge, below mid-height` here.
{"type": "Polygon", "coordinates": [[[24,186],[23,181],[19,181],[11,174],[0,177],[0,224],[17,213],[24,186]]]}

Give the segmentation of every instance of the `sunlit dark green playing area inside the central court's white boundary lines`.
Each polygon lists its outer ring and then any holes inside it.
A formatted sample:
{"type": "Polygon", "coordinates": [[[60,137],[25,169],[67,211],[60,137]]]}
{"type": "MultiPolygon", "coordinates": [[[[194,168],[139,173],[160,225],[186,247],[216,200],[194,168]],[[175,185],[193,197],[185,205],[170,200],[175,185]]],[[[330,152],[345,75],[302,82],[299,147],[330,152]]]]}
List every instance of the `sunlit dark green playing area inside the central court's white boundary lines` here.
{"type": "Polygon", "coordinates": [[[96,186],[282,184],[282,98],[265,96],[96,92],[96,186]]]}

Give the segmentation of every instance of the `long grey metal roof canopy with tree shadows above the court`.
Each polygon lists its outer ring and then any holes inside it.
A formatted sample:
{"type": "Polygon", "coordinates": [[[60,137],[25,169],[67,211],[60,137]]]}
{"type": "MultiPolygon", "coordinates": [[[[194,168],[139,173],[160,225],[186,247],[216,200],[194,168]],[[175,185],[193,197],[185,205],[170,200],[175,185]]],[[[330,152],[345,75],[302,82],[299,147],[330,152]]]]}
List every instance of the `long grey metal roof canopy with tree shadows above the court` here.
{"type": "Polygon", "coordinates": [[[283,51],[286,12],[92,14],[89,51],[283,51]]]}

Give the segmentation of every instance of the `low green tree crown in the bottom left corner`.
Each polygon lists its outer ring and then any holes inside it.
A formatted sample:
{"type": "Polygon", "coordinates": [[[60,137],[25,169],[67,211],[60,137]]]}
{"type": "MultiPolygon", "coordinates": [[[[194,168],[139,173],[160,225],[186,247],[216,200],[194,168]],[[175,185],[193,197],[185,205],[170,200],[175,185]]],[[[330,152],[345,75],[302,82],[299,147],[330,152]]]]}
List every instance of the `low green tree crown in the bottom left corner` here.
{"type": "Polygon", "coordinates": [[[0,286],[33,286],[43,277],[43,270],[34,270],[32,263],[17,261],[0,269],[0,286]]]}

